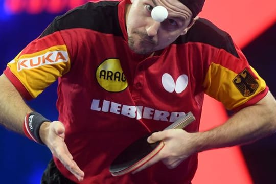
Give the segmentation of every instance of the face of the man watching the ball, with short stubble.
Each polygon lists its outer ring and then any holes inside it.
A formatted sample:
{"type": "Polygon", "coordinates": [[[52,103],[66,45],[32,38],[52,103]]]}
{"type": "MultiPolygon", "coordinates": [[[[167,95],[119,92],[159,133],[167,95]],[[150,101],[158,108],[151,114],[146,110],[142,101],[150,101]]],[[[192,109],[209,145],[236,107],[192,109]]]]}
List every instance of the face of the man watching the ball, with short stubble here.
{"type": "Polygon", "coordinates": [[[150,54],[171,44],[192,19],[192,12],[178,0],[132,0],[126,14],[128,45],[138,54],[150,54]],[[151,17],[155,6],[164,6],[168,18],[157,22],[151,17]]]}

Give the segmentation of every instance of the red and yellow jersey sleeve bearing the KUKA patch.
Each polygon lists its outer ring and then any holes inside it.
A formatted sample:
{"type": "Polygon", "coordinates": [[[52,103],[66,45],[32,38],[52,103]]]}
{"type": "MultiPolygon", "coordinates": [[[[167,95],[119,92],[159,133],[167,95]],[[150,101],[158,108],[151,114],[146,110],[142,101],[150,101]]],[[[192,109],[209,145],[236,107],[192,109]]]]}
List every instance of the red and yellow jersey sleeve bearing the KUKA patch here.
{"type": "Polygon", "coordinates": [[[54,20],[7,64],[4,74],[26,99],[37,97],[70,70],[70,55],[54,20]]]}

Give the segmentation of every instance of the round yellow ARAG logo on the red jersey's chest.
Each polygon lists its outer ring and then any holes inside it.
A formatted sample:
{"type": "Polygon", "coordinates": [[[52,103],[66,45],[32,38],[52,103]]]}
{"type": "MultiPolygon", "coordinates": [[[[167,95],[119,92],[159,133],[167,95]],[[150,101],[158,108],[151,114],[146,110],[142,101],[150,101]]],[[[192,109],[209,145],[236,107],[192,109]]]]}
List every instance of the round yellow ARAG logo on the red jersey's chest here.
{"type": "Polygon", "coordinates": [[[127,80],[119,59],[103,61],[97,68],[96,78],[102,88],[110,92],[120,92],[127,88],[127,80]]]}

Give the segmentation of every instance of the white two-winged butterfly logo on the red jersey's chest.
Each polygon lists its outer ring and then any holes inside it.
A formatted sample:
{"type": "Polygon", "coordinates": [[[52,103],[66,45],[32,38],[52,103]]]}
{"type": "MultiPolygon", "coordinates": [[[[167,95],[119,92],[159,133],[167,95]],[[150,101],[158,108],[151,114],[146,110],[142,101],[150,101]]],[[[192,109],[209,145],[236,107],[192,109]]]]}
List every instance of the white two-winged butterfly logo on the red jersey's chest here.
{"type": "Polygon", "coordinates": [[[173,93],[173,91],[177,94],[182,93],[182,91],[186,89],[188,81],[188,76],[186,74],[180,75],[176,82],[174,82],[173,77],[168,73],[165,73],[162,76],[162,85],[169,93],[173,93]]]}

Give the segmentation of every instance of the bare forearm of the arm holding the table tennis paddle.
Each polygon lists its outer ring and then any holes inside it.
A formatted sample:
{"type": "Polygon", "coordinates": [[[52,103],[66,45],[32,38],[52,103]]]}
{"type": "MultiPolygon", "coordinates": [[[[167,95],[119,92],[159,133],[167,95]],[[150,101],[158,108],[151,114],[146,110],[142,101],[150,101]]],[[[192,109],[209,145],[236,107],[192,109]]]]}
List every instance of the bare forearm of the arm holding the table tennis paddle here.
{"type": "Polygon", "coordinates": [[[194,134],[198,152],[245,144],[276,130],[276,105],[270,93],[254,106],[237,112],[223,125],[194,134]]]}

